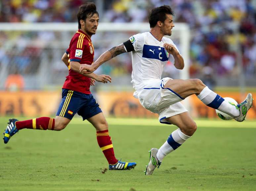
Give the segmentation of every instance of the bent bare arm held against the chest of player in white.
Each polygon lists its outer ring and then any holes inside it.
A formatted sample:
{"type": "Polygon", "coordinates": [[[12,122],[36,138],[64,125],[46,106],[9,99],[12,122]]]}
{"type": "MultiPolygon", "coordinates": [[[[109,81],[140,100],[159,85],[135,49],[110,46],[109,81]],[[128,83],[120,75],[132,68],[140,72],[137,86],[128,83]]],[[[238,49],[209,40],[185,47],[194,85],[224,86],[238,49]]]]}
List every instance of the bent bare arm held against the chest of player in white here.
{"type": "Polygon", "coordinates": [[[184,68],[184,59],[182,58],[179,51],[175,48],[174,45],[164,43],[164,48],[168,51],[169,54],[172,54],[174,57],[174,66],[177,69],[183,69],[184,68]]]}

